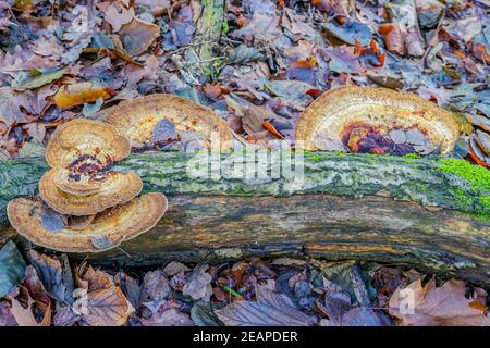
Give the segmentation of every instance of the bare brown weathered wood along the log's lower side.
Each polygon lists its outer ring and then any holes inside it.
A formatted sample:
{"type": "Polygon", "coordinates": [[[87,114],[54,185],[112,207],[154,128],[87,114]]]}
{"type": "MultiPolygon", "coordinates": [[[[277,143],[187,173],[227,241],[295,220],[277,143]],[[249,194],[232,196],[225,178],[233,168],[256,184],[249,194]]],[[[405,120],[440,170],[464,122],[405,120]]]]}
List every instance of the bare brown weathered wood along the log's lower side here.
{"type": "MultiPolygon", "coordinates": [[[[461,212],[382,197],[327,195],[177,195],[169,197],[169,204],[156,228],[88,260],[136,266],[247,256],[358,259],[408,264],[490,286],[490,225],[461,212]]],[[[0,239],[14,235],[5,229],[0,239]]]]}

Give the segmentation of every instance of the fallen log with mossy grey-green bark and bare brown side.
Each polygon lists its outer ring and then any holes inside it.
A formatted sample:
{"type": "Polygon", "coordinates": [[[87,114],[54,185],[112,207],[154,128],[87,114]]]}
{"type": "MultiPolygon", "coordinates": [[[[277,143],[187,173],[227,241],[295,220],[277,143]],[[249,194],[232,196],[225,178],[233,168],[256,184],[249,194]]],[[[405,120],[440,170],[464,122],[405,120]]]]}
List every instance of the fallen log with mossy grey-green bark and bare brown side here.
{"type": "MultiPolygon", "coordinates": [[[[359,259],[490,287],[490,186],[486,172],[464,161],[311,153],[305,154],[303,185],[294,176],[237,178],[231,170],[224,177],[212,178],[216,171],[188,176],[188,166],[205,163],[204,153],[177,152],[120,162],[119,169],[143,177],[146,190],[164,192],[170,208],[152,231],[89,260],[134,266],[252,254],[359,259]]],[[[1,219],[10,199],[35,195],[46,170],[42,159],[0,163],[1,219]]],[[[14,235],[5,227],[0,244],[14,235]]]]}

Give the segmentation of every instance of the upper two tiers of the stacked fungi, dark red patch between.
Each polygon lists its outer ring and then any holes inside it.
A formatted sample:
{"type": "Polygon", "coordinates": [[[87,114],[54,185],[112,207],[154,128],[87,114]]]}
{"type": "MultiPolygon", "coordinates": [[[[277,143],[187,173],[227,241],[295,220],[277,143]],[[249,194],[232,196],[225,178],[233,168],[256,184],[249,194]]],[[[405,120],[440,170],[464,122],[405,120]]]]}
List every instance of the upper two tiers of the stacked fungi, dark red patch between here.
{"type": "Polygon", "coordinates": [[[142,191],[142,178],[111,167],[130,152],[128,140],[111,125],[71,121],[48,144],[46,160],[53,169],[39,181],[39,195],[53,210],[70,215],[90,215],[127,202],[142,191]]]}

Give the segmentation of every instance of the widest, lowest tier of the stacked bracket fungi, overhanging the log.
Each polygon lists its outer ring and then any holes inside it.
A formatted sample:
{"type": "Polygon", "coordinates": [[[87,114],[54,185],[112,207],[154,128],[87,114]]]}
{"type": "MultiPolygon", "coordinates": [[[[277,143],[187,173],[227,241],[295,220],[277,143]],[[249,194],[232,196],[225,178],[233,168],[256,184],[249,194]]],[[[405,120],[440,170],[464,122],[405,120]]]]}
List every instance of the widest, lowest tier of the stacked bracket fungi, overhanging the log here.
{"type": "Polygon", "coordinates": [[[150,192],[110,208],[84,221],[69,223],[60,214],[47,215],[44,203],[28,198],[9,202],[7,214],[20,235],[30,241],[62,252],[99,252],[119,246],[152,228],[167,211],[167,198],[150,192]],[[46,223],[58,219],[59,223],[46,223]]]}

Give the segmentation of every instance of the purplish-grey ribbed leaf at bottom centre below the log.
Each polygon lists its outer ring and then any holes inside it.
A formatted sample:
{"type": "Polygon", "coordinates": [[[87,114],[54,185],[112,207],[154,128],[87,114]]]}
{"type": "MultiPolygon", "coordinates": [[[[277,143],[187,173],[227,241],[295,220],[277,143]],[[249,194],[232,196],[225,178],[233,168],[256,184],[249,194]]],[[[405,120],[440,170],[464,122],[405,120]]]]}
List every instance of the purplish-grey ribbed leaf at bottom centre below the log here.
{"type": "Polygon", "coordinates": [[[311,326],[317,320],[299,311],[284,294],[258,285],[257,301],[237,301],[216,311],[226,326],[311,326]]]}

